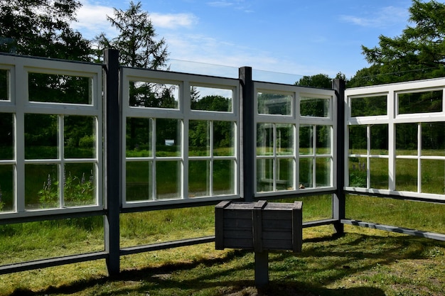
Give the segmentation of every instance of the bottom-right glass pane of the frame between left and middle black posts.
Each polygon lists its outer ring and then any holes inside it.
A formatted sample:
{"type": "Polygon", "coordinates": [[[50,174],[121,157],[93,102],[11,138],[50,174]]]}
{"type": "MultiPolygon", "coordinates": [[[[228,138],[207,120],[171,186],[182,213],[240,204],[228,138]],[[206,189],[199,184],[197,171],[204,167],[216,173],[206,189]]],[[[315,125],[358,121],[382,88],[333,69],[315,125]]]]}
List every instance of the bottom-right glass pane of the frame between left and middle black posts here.
{"type": "Polygon", "coordinates": [[[213,161],[213,195],[235,194],[235,160],[213,161]]]}

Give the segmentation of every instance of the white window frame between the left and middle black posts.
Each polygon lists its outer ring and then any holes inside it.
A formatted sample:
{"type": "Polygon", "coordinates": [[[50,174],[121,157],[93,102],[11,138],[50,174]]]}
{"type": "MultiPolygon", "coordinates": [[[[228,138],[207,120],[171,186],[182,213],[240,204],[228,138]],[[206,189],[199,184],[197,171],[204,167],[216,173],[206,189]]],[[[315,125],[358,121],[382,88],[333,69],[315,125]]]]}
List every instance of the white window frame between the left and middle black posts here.
{"type": "MultiPolygon", "coordinates": [[[[177,72],[164,72],[154,70],[141,70],[123,67],[121,69],[121,81],[122,81],[122,207],[144,207],[151,205],[161,204],[181,204],[186,202],[204,202],[207,200],[223,200],[223,199],[237,199],[240,198],[240,143],[239,143],[239,128],[240,128],[240,83],[238,80],[222,77],[208,77],[199,75],[188,75],[177,72]],[[154,83],[166,83],[177,84],[179,86],[179,98],[178,109],[161,109],[150,107],[132,107],[129,106],[129,82],[141,81],[141,82],[154,82],[154,83]],[[220,111],[202,111],[191,110],[191,86],[195,87],[209,87],[215,89],[229,89],[232,91],[232,111],[220,112],[220,111]],[[178,119],[182,121],[181,131],[181,153],[176,157],[156,157],[151,155],[150,157],[142,158],[127,158],[126,157],[126,125],[128,117],[138,117],[145,119],[178,119]],[[191,120],[202,121],[230,121],[235,123],[234,136],[234,155],[230,156],[215,156],[210,153],[209,156],[189,156],[188,155],[188,123],[191,120]],[[157,160],[172,160],[179,161],[181,163],[181,184],[179,185],[180,197],[173,199],[151,199],[127,202],[126,194],[126,170],[127,161],[153,161],[152,166],[153,173],[151,179],[156,181],[156,161],[157,160]],[[209,160],[213,163],[213,160],[232,160],[235,164],[234,172],[234,194],[227,195],[213,195],[213,184],[210,184],[210,196],[205,197],[189,197],[188,195],[188,160],[209,160]]],[[[152,139],[154,145],[156,139],[152,139]]],[[[210,151],[213,149],[213,143],[210,143],[210,151]]],[[[213,170],[210,170],[210,174],[213,170]]],[[[210,180],[213,178],[210,175],[210,180]]],[[[211,182],[210,182],[211,183],[211,182]]],[[[155,183],[154,183],[155,184],[155,183]]],[[[155,187],[155,186],[154,186],[155,187]]],[[[156,189],[155,189],[156,190],[156,189]]],[[[156,197],[156,194],[153,194],[156,197]]]]}

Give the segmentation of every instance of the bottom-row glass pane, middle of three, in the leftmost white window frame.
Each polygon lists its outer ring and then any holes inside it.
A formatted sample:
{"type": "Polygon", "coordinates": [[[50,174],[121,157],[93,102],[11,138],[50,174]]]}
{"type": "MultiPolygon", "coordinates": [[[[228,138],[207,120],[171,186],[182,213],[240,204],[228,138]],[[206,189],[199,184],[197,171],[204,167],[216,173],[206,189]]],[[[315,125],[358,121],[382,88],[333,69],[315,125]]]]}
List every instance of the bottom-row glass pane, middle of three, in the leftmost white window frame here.
{"type": "Polygon", "coordinates": [[[25,208],[60,207],[58,165],[25,165],[25,208]]]}

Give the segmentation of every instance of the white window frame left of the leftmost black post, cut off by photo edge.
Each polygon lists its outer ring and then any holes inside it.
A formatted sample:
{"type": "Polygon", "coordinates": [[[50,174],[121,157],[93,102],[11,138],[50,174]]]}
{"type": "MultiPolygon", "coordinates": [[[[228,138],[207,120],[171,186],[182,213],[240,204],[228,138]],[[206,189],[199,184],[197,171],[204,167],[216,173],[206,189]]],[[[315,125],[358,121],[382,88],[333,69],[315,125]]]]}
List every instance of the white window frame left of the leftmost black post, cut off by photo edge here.
{"type": "MultiPolygon", "coordinates": [[[[102,158],[102,65],[88,63],[63,62],[58,60],[11,57],[0,55],[0,69],[9,70],[9,100],[0,101],[2,113],[14,114],[14,158],[0,160],[0,165],[14,166],[14,209],[11,212],[1,212],[0,219],[42,216],[50,214],[65,214],[76,212],[92,212],[103,209],[103,158],[102,158]],[[11,60],[13,62],[11,62],[11,60]],[[91,80],[90,104],[62,104],[52,102],[30,102],[28,99],[28,73],[43,73],[50,75],[68,75],[87,77],[91,80]],[[25,159],[24,117],[25,114],[58,115],[58,158],[44,160],[25,159]],[[79,115],[96,118],[95,124],[95,157],[94,158],[64,158],[63,116],[79,115]],[[95,165],[95,204],[64,207],[63,182],[59,182],[60,207],[49,209],[26,209],[25,204],[25,165],[26,164],[54,164],[63,168],[70,163],[92,163],[95,165]]],[[[63,180],[63,170],[59,169],[58,180],[63,180]]]]}

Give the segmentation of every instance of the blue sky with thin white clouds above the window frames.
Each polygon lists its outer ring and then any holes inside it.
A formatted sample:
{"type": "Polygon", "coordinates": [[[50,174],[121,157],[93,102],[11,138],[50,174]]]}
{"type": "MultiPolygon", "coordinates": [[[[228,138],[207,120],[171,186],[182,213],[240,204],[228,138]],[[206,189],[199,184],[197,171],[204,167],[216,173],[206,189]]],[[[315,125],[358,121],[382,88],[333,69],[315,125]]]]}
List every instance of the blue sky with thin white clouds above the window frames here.
{"type": "MultiPolygon", "coordinates": [[[[127,0],[80,0],[73,28],[85,38],[116,34],[106,15],[126,10],[127,0]]],[[[138,1],[134,1],[137,3],[138,1]]],[[[165,38],[171,70],[223,65],[289,73],[283,80],[318,73],[350,78],[368,67],[360,45],[378,45],[409,24],[411,0],[150,0],[141,1],[159,38],[165,38]],[[198,64],[191,64],[191,61],[198,64]]],[[[203,70],[205,71],[205,70],[203,70]]],[[[259,72],[262,72],[259,71],[259,72]]],[[[200,73],[215,75],[215,73],[200,73]]],[[[254,72],[255,74],[255,72],[254,72]]],[[[255,77],[254,77],[255,79],[255,77]]],[[[258,79],[257,80],[261,80],[258,79]]],[[[281,81],[280,81],[281,82],[281,81]]],[[[288,83],[286,81],[283,81],[288,83]]],[[[293,83],[293,82],[289,82],[293,83]]]]}

